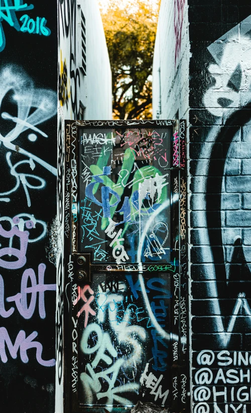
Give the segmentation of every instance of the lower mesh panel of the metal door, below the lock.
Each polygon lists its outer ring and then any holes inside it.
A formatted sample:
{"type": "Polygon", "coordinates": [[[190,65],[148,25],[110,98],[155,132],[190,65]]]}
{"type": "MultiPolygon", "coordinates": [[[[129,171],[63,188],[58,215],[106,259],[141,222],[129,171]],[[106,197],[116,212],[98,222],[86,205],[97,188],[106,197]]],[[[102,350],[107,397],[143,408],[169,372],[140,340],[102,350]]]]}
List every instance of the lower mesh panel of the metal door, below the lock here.
{"type": "Polygon", "coordinates": [[[156,404],[169,403],[171,275],[139,277],[97,273],[92,290],[79,287],[80,296],[86,297],[78,304],[81,404],[132,406],[139,399],[148,401],[154,391],[156,404]],[[87,300],[92,302],[92,314],[83,308],[87,300]]]}

